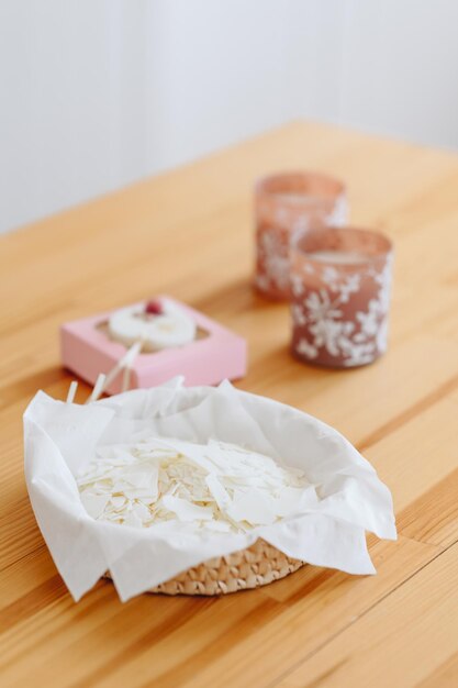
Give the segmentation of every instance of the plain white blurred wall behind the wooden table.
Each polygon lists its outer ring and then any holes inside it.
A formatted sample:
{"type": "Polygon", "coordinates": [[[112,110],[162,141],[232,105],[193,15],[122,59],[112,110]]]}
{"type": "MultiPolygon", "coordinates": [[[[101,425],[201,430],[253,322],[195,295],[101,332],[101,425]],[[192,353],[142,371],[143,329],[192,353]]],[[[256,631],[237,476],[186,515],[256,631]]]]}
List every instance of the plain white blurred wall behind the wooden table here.
{"type": "Polygon", "coordinates": [[[458,148],[456,0],[1,0],[0,231],[298,118],[458,148]]]}

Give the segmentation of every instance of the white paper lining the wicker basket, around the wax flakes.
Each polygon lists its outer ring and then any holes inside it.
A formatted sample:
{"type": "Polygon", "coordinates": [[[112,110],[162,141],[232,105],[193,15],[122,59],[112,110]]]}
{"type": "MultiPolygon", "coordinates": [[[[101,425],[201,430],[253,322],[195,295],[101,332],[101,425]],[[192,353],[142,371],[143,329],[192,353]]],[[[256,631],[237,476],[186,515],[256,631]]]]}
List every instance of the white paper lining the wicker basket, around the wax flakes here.
{"type": "Polygon", "coordinates": [[[40,391],[24,413],[25,477],[36,520],[75,600],[109,569],[122,600],[213,556],[262,537],[291,557],[349,574],[373,574],[366,531],[395,540],[391,495],[337,431],[297,409],[233,388],[183,387],[181,379],[87,406],[40,391]],[[249,533],[196,533],[186,523],[147,529],[96,521],[75,477],[99,444],[145,433],[242,445],[302,468],[317,503],[249,533]]]}

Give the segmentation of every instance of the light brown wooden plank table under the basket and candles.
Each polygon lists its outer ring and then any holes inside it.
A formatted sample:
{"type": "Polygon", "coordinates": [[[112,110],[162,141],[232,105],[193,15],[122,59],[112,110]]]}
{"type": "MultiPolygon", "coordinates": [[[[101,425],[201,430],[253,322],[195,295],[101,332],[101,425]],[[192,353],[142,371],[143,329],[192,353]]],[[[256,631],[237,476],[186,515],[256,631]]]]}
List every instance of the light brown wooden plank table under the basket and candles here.
{"type": "MultiPolygon", "coordinates": [[[[0,241],[1,686],[170,688],[458,685],[458,157],[291,124],[0,241]],[[283,304],[250,288],[252,187],[267,170],[347,180],[351,218],[394,238],[390,351],[328,371],[288,354],[283,304]],[[60,322],[168,292],[249,342],[244,389],[335,425],[392,489],[400,537],[378,568],[305,566],[222,599],[99,582],[78,604],[35,523],[22,412],[66,395],[60,322]]],[[[80,390],[80,399],[87,389],[80,390]]]]}

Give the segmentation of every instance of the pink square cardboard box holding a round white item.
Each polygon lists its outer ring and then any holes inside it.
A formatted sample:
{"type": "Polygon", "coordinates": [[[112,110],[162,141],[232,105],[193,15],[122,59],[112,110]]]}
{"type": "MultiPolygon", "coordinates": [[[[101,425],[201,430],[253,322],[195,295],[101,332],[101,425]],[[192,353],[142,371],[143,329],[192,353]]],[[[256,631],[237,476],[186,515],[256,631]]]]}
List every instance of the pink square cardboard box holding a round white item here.
{"type": "MultiPolygon", "coordinates": [[[[199,311],[170,297],[160,296],[180,307],[198,325],[199,336],[190,344],[159,352],[139,354],[132,367],[131,388],[154,387],[176,375],[185,384],[216,385],[224,379],[238,379],[246,374],[246,341],[199,311]]],[[[60,351],[64,365],[93,385],[100,373],[109,373],[126,352],[123,344],[109,339],[103,325],[111,311],[75,320],[60,328],[60,351]]],[[[121,391],[122,375],[109,386],[108,392],[121,391]]]]}

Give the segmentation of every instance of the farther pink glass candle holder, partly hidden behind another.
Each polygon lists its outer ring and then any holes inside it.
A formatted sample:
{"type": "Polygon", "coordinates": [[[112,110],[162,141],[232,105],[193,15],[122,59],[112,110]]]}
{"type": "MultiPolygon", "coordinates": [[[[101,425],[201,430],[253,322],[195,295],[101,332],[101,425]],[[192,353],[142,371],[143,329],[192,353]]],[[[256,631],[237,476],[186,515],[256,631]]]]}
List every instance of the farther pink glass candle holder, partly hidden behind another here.
{"type": "Polygon", "coordinates": [[[316,223],[345,224],[345,186],[337,179],[313,173],[266,177],[255,187],[255,285],[271,299],[288,299],[289,248],[293,232],[316,223]]]}

